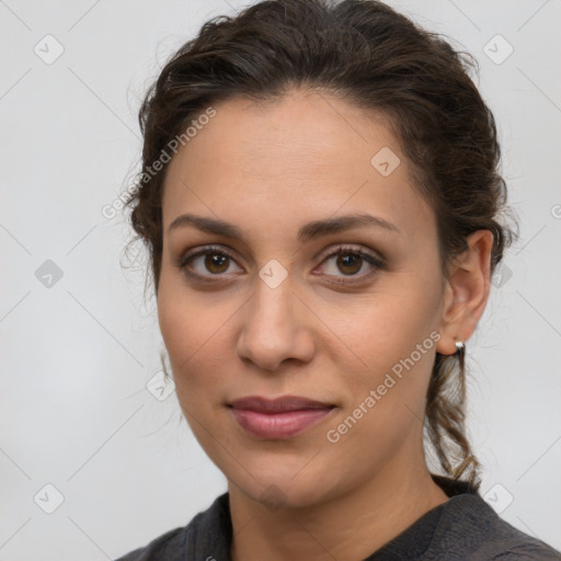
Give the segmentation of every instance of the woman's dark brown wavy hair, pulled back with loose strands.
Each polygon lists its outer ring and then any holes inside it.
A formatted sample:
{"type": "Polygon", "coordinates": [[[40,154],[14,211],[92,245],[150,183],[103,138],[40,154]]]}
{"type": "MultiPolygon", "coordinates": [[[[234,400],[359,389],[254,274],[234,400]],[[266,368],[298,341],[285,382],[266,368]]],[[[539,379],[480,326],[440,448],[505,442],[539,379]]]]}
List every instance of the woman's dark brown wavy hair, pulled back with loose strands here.
{"type": "MultiPolygon", "coordinates": [[[[234,95],[274,100],[294,87],[389,117],[415,186],[437,217],[443,274],[480,229],[493,233],[494,271],[516,234],[497,218],[506,187],[493,115],[468,76],[477,68],[471,55],[375,0],[267,0],[206,22],[168,61],[139,112],[142,171],[125,206],[133,207],[133,228],[148,249],[156,294],[168,167],[153,174],[151,165],[213,103],[234,95]]],[[[465,436],[465,396],[463,356],[458,364],[437,353],[425,434],[446,474],[479,486],[480,465],[465,436]]]]}

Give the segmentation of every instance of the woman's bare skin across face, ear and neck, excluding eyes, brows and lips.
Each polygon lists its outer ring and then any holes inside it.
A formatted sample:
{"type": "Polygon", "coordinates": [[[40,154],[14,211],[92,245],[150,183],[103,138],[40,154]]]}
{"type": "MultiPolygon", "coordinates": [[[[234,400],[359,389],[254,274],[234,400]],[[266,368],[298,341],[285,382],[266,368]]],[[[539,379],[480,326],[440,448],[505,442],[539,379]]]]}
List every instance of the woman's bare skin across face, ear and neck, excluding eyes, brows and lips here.
{"type": "Polygon", "coordinates": [[[436,217],[380,115],[300,90],[215,108],[171,161],[162,201],[158,314],[180,405],[228,479],[234,561],[358,561],[448,499],[430,477],[421,420],[435,353],[454,354],[483,313],[492,233],[472,233],[443,276],[436,217]],[[388,176],[370,163],[382,147],[401,160],[388,176]],[[231,222],[245,240],[193,226],[169,232],[184,213],[231,222]],[[353,213],[381,217],[399,232],[363,226],[297,239],[309,221],[353,213]],[[213,277],[205,284],[178,261],[206,244],[233,259],[185,265],[213,277]],[[328,255],[342,244],[381,255],[387,266],[359,257],[354,268],[337,266],[328,255]],[[276,288],[259,276],[273,259],[287,272],[276,288]],[[330,443],[328,431],[435,330],[437,343],[330,443]],[[295,437],[260,439],[227,407],[254,394],[336,408],[295,437]]]}

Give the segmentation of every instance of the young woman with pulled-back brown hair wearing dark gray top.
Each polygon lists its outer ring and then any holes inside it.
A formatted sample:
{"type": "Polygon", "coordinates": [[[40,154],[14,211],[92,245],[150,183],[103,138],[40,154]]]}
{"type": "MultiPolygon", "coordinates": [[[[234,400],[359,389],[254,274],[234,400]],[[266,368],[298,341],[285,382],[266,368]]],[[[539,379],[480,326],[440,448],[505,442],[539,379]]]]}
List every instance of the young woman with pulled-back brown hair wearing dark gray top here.
{"type": "Polygon", "coordinates": [[[471,60],[380,2],[282,0],[162,70],[128,204],[228,493],[122,561],[561,559],[483,501],[463,434],[514,237],[471,60]]]}

